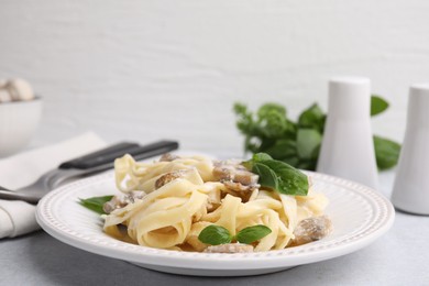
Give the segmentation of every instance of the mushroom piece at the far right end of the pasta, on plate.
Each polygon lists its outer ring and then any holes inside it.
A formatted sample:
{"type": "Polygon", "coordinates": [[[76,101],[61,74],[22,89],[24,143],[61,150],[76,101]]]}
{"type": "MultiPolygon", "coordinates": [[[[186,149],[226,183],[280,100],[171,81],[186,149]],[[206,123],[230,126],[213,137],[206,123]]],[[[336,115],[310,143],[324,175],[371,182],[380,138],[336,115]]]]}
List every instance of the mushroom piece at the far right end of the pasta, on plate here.
{"type": "Polygon", "coordinates": [[[327,216],[308,218],[301,220],[296,227],[293,245],[301,245],[312,241],[318,241],[327,237],[332,231],[332,222],[327,216]]]}

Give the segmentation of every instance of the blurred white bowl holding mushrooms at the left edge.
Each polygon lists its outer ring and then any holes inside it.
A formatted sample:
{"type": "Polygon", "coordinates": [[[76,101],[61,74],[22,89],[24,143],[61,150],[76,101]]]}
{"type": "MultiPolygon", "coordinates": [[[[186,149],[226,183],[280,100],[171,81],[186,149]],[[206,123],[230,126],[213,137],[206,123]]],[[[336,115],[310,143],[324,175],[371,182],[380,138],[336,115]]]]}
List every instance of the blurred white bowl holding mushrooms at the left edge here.
{"type": "Polygon", "coordinates": [[[0,157],[25,147],[37,129],[42,114],[42,100],[0,103],[0,157]]]}

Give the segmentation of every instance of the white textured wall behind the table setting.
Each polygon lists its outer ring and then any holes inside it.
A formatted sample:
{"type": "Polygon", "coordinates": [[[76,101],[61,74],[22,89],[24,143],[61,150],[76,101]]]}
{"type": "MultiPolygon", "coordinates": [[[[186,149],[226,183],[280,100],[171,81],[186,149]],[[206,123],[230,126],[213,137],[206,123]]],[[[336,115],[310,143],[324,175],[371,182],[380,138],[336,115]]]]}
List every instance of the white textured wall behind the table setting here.
{"type": "Polygon", "coordinates": [[[296,116],[327,106],[332,75],[370,77],[392,103],[374,130],[402,140],[408,86],[429,80],[429,1],[0,0],[0,78],[45,101],[35,142],[90,129],[237,155],[234,101],[296,116]]]}

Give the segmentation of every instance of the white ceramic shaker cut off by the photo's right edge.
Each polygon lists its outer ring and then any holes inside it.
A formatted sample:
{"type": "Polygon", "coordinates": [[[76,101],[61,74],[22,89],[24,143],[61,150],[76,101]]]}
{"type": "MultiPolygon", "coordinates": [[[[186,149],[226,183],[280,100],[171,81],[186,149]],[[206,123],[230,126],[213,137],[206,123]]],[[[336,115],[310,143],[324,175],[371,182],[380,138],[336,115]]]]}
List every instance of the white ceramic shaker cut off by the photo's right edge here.
{"type": "Polygon", "coordinates": [[[429,215],[429,84],[414,85],[409,90],[392,202],[407,212],[429,215]]]}

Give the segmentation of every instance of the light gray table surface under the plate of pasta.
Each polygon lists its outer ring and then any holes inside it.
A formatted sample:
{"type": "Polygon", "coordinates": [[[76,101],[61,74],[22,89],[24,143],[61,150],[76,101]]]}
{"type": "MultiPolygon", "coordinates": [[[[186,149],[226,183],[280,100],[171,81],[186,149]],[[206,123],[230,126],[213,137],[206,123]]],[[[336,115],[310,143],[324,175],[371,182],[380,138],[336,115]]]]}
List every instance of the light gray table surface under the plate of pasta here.
{"type": "MultiPolygon", "coordinates": [[[[381,175],[389,196],[394,175],[381,175]]],[[[429,217],[396,213],[393,228],[349,255],[249,277],[154,272],[69,246],[44,231],[0,241],[0,285],[429,285],[429,217]]]]}

